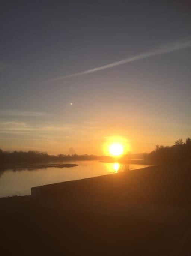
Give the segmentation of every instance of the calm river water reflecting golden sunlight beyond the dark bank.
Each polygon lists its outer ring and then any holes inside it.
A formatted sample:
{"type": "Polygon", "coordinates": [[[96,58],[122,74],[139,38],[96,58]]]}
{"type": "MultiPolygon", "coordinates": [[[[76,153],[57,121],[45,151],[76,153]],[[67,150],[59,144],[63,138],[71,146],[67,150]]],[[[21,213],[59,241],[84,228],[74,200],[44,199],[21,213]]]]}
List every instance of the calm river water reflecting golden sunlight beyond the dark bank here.
{"type": "MultiPolygon", "coordinates": [[[[76,161],[78,166],[71,168],[48,167],[43,169],[6,169],[0,171],[0,197],[31,195],[31,187],[69,180],[79,180],[119,171],[119,163],[98,161],[76,161]]],[[[148,165],[131,164],[130,169],[140,169],[148,165]]]]}

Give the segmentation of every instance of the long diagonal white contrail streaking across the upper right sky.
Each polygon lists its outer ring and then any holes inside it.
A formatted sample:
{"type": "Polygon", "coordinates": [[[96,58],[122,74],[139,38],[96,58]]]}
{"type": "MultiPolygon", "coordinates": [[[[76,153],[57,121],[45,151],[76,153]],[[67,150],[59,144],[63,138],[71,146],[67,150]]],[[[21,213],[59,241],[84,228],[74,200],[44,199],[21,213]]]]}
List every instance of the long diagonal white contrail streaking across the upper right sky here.
{"type": "Polygon", "coordinates": [[[144,52],[144,53],[136,55],[134,57],[130,57],[130,58],[126,58],[124,60],[113,62],[113,63],[107,64],[105,66],[95,67],[94,69],[89,69],[89,70],[85,70],[85,71],[82,71],[82,72],[73,73],[71,75],[60,76],[60,77],[54,78],[54,81],[64,79],[64,78],[70,78],[70,77],[73,77],[73,76],[86,75],[86,74],[89,74],[89,73],[97,72],[99,70],[109,69],[110,67],[120,66],[122,64],[126,64],[126,63],[129,63],[129,62],[132,62],[132,61],[141,60],[141,59],[152,57],[152,56],[155,56],[155,55],[174,52],[174,51],[178,51],[178,50],[189,48],[189,47],[191,47],[191,41],[171,43],[169,45],[161,46],[160,48],[152,50],[150,52],[144,52]]]}

